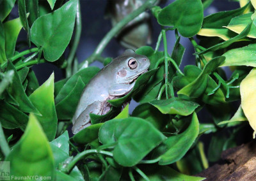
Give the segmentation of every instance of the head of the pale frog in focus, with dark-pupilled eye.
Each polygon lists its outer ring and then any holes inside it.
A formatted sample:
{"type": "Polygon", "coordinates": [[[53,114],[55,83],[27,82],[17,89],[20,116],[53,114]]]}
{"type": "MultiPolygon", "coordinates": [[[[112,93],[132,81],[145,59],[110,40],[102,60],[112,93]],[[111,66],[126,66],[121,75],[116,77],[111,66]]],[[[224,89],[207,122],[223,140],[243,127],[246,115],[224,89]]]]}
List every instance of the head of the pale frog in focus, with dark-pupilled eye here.
{"type": "Polygon", "coordinates": [[[125,50],[124,54],[117,58],[116,83],[131,84],[138,76],[147,72],[150,66],[148,57],[138,55],[133,50],[125,50]]]}

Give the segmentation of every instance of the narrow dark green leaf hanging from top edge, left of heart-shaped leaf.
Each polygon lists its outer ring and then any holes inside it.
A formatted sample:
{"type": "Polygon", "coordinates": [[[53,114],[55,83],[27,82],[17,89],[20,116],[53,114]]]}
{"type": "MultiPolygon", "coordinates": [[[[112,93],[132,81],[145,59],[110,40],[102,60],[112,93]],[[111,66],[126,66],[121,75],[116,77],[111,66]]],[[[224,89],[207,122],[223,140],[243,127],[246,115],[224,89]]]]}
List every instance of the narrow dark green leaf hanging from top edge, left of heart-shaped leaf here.
{"type": "Polygon", "coordinates": [[[30,27],[28,24],[28,16],[27,16],[27,10],[26,10],[26,0],[19,0],[19,16],[20,16],[20,22],[24,29],[28,32],[28,43],[30,47],[30,27]]]}

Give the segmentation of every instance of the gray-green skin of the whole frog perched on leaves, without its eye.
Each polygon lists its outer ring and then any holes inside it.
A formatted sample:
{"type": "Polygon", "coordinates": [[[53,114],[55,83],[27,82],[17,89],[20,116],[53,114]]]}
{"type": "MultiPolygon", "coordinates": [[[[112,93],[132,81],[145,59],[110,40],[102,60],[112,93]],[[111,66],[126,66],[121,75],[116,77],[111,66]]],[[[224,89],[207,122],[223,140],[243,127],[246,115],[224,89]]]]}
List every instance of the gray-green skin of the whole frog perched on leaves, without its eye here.
{"type": "Polygon", "coordinates": [[[72,119],[72,132],[76,134],[91,125],[90,113],[97,115],[108,113],[111,108],[108,100],[128,94],[134,87],[134,80],[145,73],[149,66],[150,61],[147,57],[135,54],[132,50],[126,50],[124,54],[101,69],[81,94],[72,119]],[[129,67],[128,62],[131,59],[135,59],[138,63],[135,69],[129,67]]]}

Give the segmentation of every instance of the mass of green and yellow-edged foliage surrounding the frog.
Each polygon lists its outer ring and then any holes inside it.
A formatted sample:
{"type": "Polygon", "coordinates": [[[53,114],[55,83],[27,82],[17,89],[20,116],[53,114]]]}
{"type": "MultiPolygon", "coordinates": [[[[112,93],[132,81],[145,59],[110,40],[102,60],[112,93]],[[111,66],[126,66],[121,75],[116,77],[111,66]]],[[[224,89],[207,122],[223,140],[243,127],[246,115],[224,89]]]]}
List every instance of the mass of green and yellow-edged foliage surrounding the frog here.
{"type": "Polygon", "coordinates": [[[157,0],[147,0],[120,20],[80,64],[76,62],[81,34],[79,0],[45,3],[0,1],[0,159],[10,161],[14,176],[204,180],[189,175],[204,170],[208,161],[218,161],[223,150],[234,147],[246,120],[256,129],[255,1],[204,17],[212,0],[175,0],[163,9],[156,6],[157,0]],[[15,6],[19,17],[11,20],[15,6]],[[101,53],[109,41],[146,10],[151,10],[161,27],[155,49],[136,50],[150,59],[149,71],[136,80],[129,94],[109,101],[113,105],[109,113],[90,115],[92,126],[74,136],[68,134],[81,92],[99,72],[87,65],[96,59],[104,62],[101,53]],[[28,41],[20,51],[17,38],[22,28],[28,41]],[[167,31],[174,31],[176,40],[167,41],[167,31]],[[195,48],[195,62],[185,66],[184,73],[179,68],[185,52],[180,36],[195,48]],[[161,41],[163,52],[159,51],[161,41]],[[167,43],[174,45],[170,55],[167,43]],[[54,83],[52,73],[39,86],[31,67],[44,62],[58,65],[66,77],[54,83]],[[230,78],[221,66],[234,71],[230,78]],[[241,106],[231,118],[231,104],[240,100],[240,91],[241,106]],[[140,105],[131,115],[129,105],[120,113],[131,98],[140,105]],[[203,108],[209,110],[208,120],[198,119],[203,108]],[[198,140],[210,133],[205,156],[198,140]]]}

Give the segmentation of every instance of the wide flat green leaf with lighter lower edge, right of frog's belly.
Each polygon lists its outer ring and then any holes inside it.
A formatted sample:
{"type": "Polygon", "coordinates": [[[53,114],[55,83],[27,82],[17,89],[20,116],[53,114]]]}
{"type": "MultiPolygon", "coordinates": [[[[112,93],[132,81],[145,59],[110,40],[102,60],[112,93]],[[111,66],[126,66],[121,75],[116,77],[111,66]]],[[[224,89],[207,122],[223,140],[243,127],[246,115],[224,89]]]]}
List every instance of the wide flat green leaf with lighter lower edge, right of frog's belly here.
{"type": "Polygon", "coordinates": [[[155,106],[161,113],[179,114],[184,116],[190,115],[199,106],[193,101],[186,101],[180,98],[154,100],[151,101],[150,104],[155,106]]]}

